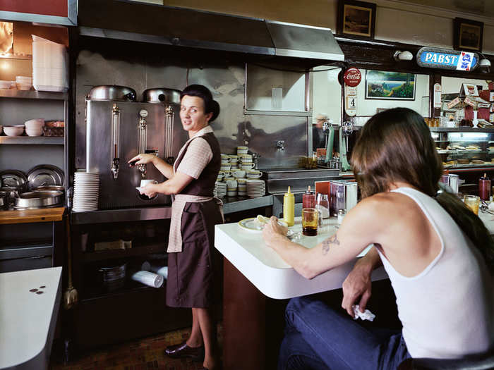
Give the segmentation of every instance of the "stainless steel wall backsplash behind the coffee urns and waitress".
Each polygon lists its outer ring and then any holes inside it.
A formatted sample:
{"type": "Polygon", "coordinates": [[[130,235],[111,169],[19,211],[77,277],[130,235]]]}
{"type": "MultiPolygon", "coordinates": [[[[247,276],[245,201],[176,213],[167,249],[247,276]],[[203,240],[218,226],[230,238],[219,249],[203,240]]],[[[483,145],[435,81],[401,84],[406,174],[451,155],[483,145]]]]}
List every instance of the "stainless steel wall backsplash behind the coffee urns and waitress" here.
{"type": "Polygon", "coordinates": [[[248,146],[260,154],[259,168],[296,166],[299,156],[307,154],[308,118],[260,116],[243,113],[245,66],[243,63],[205,62],[171,56],[140,53],[115,53],[91,47],[80,51],[76,85],[76,168],[85,168],[85,100],[95,85],[132,87],[142,101],[142,93],[152,87],[182,90],[198,83],[210,88],[221,113],[212,128],[222,153],[234,154],[236,147],[248,146]],[[189,67],[188,67],[189,66],[189,67]],[[284,140],[284,150],[277,149],[284,140]]]}

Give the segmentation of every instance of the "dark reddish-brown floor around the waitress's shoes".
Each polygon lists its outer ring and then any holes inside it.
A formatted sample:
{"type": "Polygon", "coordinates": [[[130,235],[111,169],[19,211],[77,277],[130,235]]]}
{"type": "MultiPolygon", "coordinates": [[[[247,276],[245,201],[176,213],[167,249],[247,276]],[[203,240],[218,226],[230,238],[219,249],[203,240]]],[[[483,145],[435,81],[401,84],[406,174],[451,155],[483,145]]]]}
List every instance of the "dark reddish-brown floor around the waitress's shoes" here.
{"type": "MultiPolygon", "coordinates": [[[[52,370],[192,370],[203,369],[203,364],[189,359],[171,359],[164,354],[168,345],[176,345],[188,338],[191,328],[162,335],[113,345],[104,350],[90,352],[68,364],[51,364],[52,370]]],[[[221,326],[218,327],[220,353],[222,348],[221,326]]]]}

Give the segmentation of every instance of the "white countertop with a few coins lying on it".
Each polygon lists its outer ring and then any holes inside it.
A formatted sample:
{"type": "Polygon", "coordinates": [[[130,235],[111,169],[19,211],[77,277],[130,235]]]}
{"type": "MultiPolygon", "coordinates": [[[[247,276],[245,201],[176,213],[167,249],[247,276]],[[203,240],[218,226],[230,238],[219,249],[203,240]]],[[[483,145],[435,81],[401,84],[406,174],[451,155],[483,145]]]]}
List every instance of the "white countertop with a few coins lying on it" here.
{"type": "Polygon", "coordinates": [[[61,297],[61,270],[0,273],[0,369],[47,369],[61,297]]]}

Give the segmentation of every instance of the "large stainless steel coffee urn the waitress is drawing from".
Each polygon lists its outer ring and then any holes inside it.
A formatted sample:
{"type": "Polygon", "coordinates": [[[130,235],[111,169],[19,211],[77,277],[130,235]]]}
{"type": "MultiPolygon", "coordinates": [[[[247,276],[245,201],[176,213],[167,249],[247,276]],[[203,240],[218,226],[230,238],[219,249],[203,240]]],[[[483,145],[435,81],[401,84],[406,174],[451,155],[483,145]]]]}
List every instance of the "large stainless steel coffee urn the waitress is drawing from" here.
{"type": "Polygon", "coordinates": [[[86,168],[100,173],[98,209],[171,204],[169,196],[149,199],[135,189],[142,179],[165,180],[155,166],[130,168],[127,162],[143,152],[169,161],[176,157],[185,142],[179,103],[170,94],[159,104],[135,102],[135,91],[123,86],[90,90],[86,97],[86,168]]]}

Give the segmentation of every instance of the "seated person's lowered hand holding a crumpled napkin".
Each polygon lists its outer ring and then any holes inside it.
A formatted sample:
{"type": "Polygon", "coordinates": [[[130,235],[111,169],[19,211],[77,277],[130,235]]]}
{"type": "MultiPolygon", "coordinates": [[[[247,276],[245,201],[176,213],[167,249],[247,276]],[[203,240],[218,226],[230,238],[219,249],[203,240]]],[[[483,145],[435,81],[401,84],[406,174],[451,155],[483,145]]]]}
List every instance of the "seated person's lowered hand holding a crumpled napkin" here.
{"type": "Polygon", "coordinates": [[[354,269],[350,271],[343,282],[342,307],[351,317],[354,317],[354,309],[352,306],[356,304],[359,297],[360,301],[358,304],[360,306],[360,311],[364,312],[366,310],[366,305],[371,295],[371,273],[372,270],[369,271],[369,269],[360,266],[359,261],[357,261],[354,269]]]}

